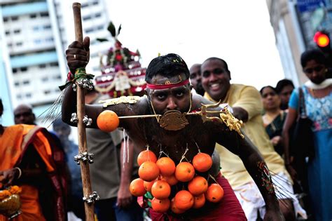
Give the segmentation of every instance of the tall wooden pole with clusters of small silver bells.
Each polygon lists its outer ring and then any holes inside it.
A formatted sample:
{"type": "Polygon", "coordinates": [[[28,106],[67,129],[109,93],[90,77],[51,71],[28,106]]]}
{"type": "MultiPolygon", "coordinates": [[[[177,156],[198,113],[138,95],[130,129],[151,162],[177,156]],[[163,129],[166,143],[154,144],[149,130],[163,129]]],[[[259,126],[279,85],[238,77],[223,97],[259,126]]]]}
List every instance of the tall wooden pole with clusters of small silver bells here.
{"type": "MultiPolygon", "coordinates": [[[[74,13],[74,26],[75,26],[75,39],[83,43],[83,31],[82,31],[82,20],[81,20],[81,4],[74,2],[73,4],[74,13]]],[[[77,84],[76,84],[77,85],[77,84]]],[[[85,89],[77,85],[77,128],[78,128],[78,152],[87,152],[86,145],[86,133],[85,125],[83,123],[83,116],[85,115],[85,89]]],[[[81,175],[83,184],[84,196],[92,194],[91,181],[90,181],[90,170],[88,161],[81,161],[81,175]]],[[[87,221],[95,220],[94,203],[84,203],[85,207],[85,219],[87,221]]]]}

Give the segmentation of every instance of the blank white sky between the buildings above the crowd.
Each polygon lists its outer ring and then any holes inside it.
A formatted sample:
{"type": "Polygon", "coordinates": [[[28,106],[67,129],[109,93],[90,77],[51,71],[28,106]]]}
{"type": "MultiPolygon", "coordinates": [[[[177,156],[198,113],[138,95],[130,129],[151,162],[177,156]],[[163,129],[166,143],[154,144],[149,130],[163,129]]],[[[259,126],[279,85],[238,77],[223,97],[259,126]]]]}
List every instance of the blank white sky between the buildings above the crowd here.
{"type": "Polygon", "coordinates": [[[188,67],[209,57],[226,60],[231,83],[275,86],[284,72],[265,1],[107,1],[123,46],[148,63],[179,54],[188,67]]]}

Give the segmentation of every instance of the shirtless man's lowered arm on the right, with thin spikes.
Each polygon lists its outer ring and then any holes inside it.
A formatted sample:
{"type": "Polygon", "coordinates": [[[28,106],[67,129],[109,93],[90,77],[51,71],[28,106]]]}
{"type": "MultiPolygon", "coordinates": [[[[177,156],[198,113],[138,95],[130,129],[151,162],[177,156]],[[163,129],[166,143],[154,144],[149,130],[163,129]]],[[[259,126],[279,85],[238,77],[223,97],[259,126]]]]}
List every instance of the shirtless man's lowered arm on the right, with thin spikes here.
{"type": "Polygon", "coordinates": [[[229,149],[233,154],[240,156],[245,168],[261,192],[267,211],[264,220],[268,218],[271,218],[271,220],[284,220],[275,196],[275,189],[268,166],[266,166],[258,149],[246,135],[244,135],[244,138],[241,138],[234,130],[228,132],[224,130],[221,134],[223,135],[216,136],[218,138],[217,142],[229,149]]]}

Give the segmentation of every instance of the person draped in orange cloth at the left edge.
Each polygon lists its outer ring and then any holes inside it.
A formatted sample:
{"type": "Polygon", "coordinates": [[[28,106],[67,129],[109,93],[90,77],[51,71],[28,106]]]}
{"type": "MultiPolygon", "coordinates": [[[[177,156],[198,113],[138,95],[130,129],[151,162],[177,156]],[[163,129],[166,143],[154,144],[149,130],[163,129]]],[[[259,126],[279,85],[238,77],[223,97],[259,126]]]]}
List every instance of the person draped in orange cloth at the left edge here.
{"type": "MultiPolygon", "coordinates": [[[[0,116],[4,107],[0,100],[0,116]]],[[[64,154],[45,128],[0,124],[0,189],[22,188],[21,215],[14,221],[66,220],[64,154]]],[[[0,215],[0,221],[8,217],[0,215]]]]}

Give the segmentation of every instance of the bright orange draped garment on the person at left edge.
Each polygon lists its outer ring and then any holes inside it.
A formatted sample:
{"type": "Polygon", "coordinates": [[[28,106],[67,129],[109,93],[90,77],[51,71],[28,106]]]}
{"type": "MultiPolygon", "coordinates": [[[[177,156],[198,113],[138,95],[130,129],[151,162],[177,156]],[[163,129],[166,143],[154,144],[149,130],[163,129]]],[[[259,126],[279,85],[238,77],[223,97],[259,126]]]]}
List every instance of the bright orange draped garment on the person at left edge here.
{"type": "MultiPolygon", "coordinates": [[[[43,135],[40,128],[34,125],[15,125],[5,128],[0,137],[0,170],[13,168],[20,163],[29,144],[32,144],[36,152],[45,163],[46,170],[51,173],[55,170],[52,160],[52,149],[48,139],[43,135]]],[[[39,203],[39,191],[32,185],[22,185],[21,211],[22,214],[13,221],[43,221],[41,205],[39,203]]],[[[0,215],[0,221],[7,220],[0,215]]]]}

